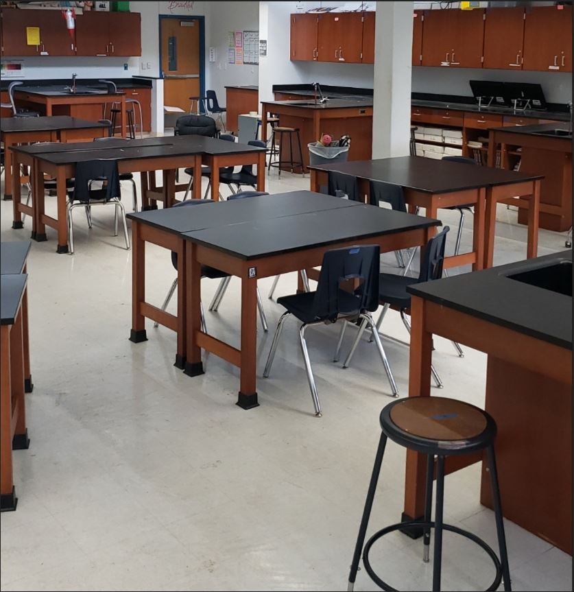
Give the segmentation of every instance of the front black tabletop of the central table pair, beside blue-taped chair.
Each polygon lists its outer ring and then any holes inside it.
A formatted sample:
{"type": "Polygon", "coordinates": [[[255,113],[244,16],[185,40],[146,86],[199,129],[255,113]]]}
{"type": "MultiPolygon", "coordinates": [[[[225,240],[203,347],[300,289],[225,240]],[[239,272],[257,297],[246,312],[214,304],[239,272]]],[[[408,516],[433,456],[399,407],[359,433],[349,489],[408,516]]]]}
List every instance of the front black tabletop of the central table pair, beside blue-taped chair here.
{"type": "Polygon", "coordinates": [[[239,259],[249,260],[439,225],[438,220],[431,218],[359,204],[355,207],[214,226],[184,233],[183,237],[239,259]]]}

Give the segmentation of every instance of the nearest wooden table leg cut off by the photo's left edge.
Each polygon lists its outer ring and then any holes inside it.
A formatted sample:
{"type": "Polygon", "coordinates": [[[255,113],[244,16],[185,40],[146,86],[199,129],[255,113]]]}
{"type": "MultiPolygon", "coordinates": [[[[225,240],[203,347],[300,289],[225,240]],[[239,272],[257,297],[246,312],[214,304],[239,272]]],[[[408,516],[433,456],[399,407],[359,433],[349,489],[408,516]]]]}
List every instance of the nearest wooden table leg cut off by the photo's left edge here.
{"type": "Polygon", "coordinates": [[[12,478],[12,390],[10,386],[10,325],[0,327],[0,509],[16,510],[12,478]]]}

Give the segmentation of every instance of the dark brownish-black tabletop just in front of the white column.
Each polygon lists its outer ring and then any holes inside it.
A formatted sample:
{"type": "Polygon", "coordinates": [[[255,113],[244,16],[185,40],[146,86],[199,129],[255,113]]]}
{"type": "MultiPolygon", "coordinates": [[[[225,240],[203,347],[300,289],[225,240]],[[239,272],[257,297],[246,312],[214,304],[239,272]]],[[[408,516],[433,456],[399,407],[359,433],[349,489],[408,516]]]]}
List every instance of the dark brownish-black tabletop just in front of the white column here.
{"type": "Polygon", "coordinates": [[[543,175],[438,161],[423,156],[398,156],[379,158],[374,161],[310,165],[309,168],[318,171],[338,171],[372,181],[384,181],[423,193],[451,193],[543,178],[543,175]]]}

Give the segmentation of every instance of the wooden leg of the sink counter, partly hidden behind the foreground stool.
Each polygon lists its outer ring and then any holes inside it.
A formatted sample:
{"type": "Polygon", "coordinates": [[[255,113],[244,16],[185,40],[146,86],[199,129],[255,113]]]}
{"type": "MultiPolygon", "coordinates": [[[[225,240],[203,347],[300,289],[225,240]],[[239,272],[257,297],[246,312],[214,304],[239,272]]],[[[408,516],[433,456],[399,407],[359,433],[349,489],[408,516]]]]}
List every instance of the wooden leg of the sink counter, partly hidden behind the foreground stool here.
{"type": "MultiPolygon", "coordinates": [[[[432,338],[432,334],[424,329],[424,300],[413,296],[411,298],[409,396],[430,396],[431,394],[432,338]]],[[[425,455],[407,450],[403,521],[423,519],[425,473],[425,455]]],[[[409,529],[407,534],[410,536],[420,536],[422,529],[420,529],[420,532],[413,532],[412,529],[409,529]]]]}

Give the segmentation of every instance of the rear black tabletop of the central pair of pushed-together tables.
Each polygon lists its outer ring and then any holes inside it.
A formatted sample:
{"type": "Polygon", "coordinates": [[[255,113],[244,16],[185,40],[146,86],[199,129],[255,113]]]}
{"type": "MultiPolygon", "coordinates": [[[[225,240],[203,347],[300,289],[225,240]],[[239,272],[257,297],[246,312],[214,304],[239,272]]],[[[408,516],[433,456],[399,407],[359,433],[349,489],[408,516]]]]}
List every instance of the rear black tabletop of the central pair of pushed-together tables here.
{"type": "Polygon", "coordinates": [[[177,208],[165,208],[126,214],[128,218],[142,224],[167,230],[170,233],[185,233],[191,230],[228,226],[252,220],[268,220],[358,206],[359,202],[342,200],[312,191],[291,191],[274,193],[272,196],[255,196],[227,202],[207,202],[177,208]]]}

